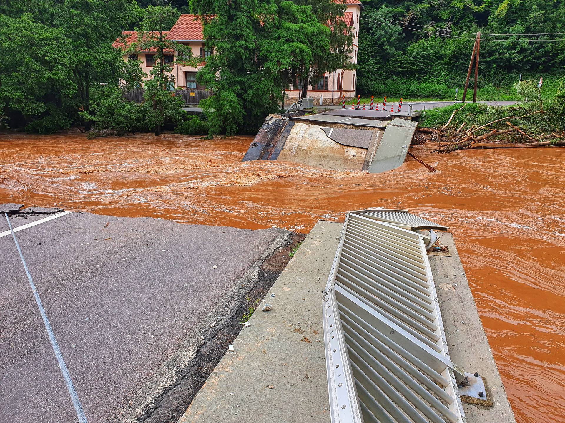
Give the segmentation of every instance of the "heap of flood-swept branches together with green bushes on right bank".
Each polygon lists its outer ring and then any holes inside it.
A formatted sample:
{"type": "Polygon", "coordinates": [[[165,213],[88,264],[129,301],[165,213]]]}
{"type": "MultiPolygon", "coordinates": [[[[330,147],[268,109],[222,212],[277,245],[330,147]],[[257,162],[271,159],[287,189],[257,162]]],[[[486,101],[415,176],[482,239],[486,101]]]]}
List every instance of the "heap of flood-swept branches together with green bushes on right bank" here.
{"type": "Polygon", "coordinates": [[[413,142],[437,142],[436,151],[441,153],[463,148],[565,146],[565,92],[562,96],[545,104],[454,104],[425,111],[413,142]],[[485,142],[504,146],[478,145],[485,142]]]}

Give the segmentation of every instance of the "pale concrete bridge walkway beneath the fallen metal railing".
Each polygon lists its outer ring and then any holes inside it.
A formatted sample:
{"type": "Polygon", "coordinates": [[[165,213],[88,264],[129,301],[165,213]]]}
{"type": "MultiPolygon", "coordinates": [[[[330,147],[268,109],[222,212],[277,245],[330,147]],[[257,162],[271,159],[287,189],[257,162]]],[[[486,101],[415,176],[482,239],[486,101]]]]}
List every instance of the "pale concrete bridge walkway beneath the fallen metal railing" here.
{"type": "MultiPolygon", "coordinates": [[[[323,221],[319,221],[318,223],[322,222],[323,221]]],[[[340,226],[337,222],[324,223],[324,226],[327,227],[331,225],[340,226]]],[[[312,240],[310,236],[315,233],[316,229],[319,230],[319,227],[318,224],[314,226],[303,245],[310,246],[307,250],[312,251],[312,255],[307,258],[309,268],[317,268],[319,272],[329,272],[334,254],[327,254],[325,258],[320,257],[323,255],[321,249],[308,243],[308,240],[312,240]],[[313,266],[312,263],[316,263],[316,265],[313,266]]],[[[340,227],[342,228],[342,224],[340,227]]],[[[332,229],[332,241],[327,240],[327,244],[322,244],[325,245],[324,248],[327,249],[329,244],[334,245],[335,241],[333,240],[337,241],[341,238],[341,236],[336,237],[339,230],[340,229],[337,227],[332,229]]],[[[486,381],[486,394],[488,398],[492,399],[494,402],[494,407],[486,407],[484,404],[464,403],[463,409],[466,413],[467,422],[515,423],[514,413],[510,407],[505,387],[502,384],[498,368],[494,362],[492,350],[490,350],[488,339],[486,338],[479,313],[476,309],[475,299],[469,287],[457,249],[455,248],[453,236],[450,232],[442,231],[440,237],[444,239],[446,245],[449,245],[453,255],[445,256],[432,253],[428,254],[428,259],[432,268],[434,284],[436,285],[436,296],[440,302],[442,320],[446,331],[446,340],[450,344],[448,347],[449,358],[467,371],[479,372],[481,376],[484,376],[486,381]],[[459,282],[458,287],[451,287],[449,284],[454,283],[454,275],[460,275],[460,277],[457,278],[459,282]],[[445,286],[442,287],[442,285],[445,286]],[[446,288],[447,285],[453,288],[453,290],[446,288]],[[453,295],[455,295],[455,298],[452,298],[453,295]],[[464,321],[465,324],[460,323],[460,321],[464,321]],[[457,332],[458,324],[462,324],[464,329],[470,331],[470,333],[457,332]],[[490,389],[491,387],[495,388],[494,391],[490,389]]],[[[333,249],[333,252],[334,251],[333,249]]],[[[325,279],[323,275],[320,275],[320,277],[318,277],[318,275],[315,275],[316,277],[310,275],[310,279],[301,280],[302,276],[297,276],[296,272],[300,270],[300,267],[297,267],[298,262],[303,259],[301,255],[295,256],[293,261],[290,261],[285,270],[281,273],[273,285],[273,289],[284,289],[286,285],[291,287],[288,281],[292,280],[294,283],[300,283],[300,285],[299,287],[295,287],[297,289],[289,290],[288,293],[303,296],[300,289],[306,291],[307,288],[315,289],[319,286],[319,296],[305,296],[303,300],[305,300],[306,303],[298,305],[297,302],[291,301],[290,298],[279,298],[279,294],[277,294],[277,299],[282,300],[282,302],[279,304],[279,307],[277,307],[275,315],[280,313],[281,309],[284,313],[302,312],[301,315],[297,314],[292,316],[292,321],[308,321],[315,327],[323,327],[321,314],[323,309],[323,285],[325,284],[325,279]],[[296,292],[297,290],[299,292],[296,292]],[[307,312],[308,307],[311,307],[316,302],[319,302],[320,306],[314,306],[314,309],[319,309],[315,318],[312,315],[305,315],[304,312],[307,312]]],[[[286,295],[288,294],[284,294],[284,296],[286,295]]],[[[277,341],[279,344],[284,342],[282,347],[279,346],[277,350],[273,350],[272,347],[275,344],[266,344],[266,339],[269,340],[269,342],[271,342],[271,339],[275,341],[274,334],[276,333],[276,325],[280,325],[279,319],[275,319],[275,322],[272,317],[273,315],[266,317],[263,314],[252,316],[251,331],[241,332],[233,342],[233,345],[236,345],[236,354],[238,354],[238,350],[243,351],[242,353],[245,355],[241,358],[245,359],[237,360],[237,358],[234,358],[234,353],[225,354],[215,371],[211,373],[206,384],[195,396],[194,401],[190,404],[185,415],[179,420],[180,423],[194,423],[200,420],[222,420],[226,422],[254,421],[253,418],[258,415],[266,421],[276,420],[285,423],[306,421],[329,422],[329,413],[320,413],[320,407],[328,407],[329,405],[327,373],[321,368],[318,369],[318,373],[316,374],[310,373],[310,379],[316,381],[314,385],[297,385],[293,384],[292,381],[284,381],[281,378],[281,385],[277,385],[277,395],[279,395],[279,399],[277,400],[273,400],[267,391],[257,390],[258,387],[272,387],[272,385],[265,385],[271,381],[270,377],[272,377],[273,374],[289,374],[285,373],[288,371],[292,371],[292,374],[295,374],[297,367],[305,370],[302,367],[307,361],[305,358],[297,356],[295,350],[292,352],[288,351],[290,344],[286,342],[285,334],[287,334],[287,331],[282,331],[278,335],[284,338],[277,341]],[[267,334],[267,338],[264,338],[264,331],[266,330],[269,331],[269,333],[267,334]],[[270,347],[269,355],[264,355],[265,352],[263,352],[263,354],[258,353],[260,349],[269,349],[270,347]],[[322,381],[322,378],[325,379],[325,383],[322,381]],[[258,384],[262,384],[262,386],[257,386],[258,384]],[[234,389],[237,386],[245,387],[242,392],[236,393],[236,395],[238,395],[236,399],[237,403],[241,402],[241,404],[244,404],[245,401],[247,401],[247,403],[245,408],[242,407],[238,409],[234,415],[233,412],[231,412],[231,408],[229,408],[229,401],[225,400],[225,396],[227,393],[233,395],[233,393],[236,392],[234,389]],[[253,391],[250,392],[250,390],[253,391]],[[292,395],[292,397],[289,395],[292,395]],[[292,400],[295,398],[303,398],[301,407],[288,406],[288,404],[297,403],[295,400],[292,400]],[[307,418],[305,418],[305,416],[307,416],[307,418]],[[221,419],[218,417],[221,417],[221,419]]],[[[288,319],[281,320],[283,324],[286,324],[288,321],[288,319]]],[[[314,353],[314,351],[310,352],[310,354],[314,353]]],[[[309,356],[308,358],[311,359],[312,357],[315,358],[315,355],[309,356]]],[[[310,371],[313,369],[313,367],[309,368],[310,371]]],[[[325,408],[325,410],[327,411],[327,408],[325,408]]]]}

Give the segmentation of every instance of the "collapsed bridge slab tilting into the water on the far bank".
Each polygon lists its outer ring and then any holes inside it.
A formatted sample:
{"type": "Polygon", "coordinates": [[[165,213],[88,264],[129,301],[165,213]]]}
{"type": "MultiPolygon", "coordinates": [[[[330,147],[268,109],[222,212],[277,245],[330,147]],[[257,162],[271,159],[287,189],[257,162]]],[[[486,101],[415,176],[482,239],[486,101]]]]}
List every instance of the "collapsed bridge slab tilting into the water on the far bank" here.
{"type": "Polygon", "coordinates": [[[292,161],[323,169],[380,173],[402,165],[416,122],[390,122],[323,114],[271,114],[244,161],[292,161]]]}

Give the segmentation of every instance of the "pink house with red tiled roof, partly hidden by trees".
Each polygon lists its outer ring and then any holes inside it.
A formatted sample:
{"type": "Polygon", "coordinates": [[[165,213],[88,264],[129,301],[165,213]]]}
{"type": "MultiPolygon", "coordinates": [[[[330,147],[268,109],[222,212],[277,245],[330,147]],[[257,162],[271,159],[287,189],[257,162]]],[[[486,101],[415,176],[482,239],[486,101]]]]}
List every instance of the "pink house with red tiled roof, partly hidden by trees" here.
{"type": "MultiPolygon", "coordinates": [[[[351,51],[351,63],[357,64],[357,50],[359,37],[359,14],[361,3],[359,0],[335,0],[336,2],[344,1],[347,5],[347,11],[342,18],[351,28],[353,33],[353,49],[351,51]]],[[[137,41],[137,33],[135,31],[124,31],[125,44],[118,38],[112,46],[118,49],[125,49],[126,45],[137,41]]],[[[202,23],[198,15],[181,15],[179,20],[167,33],[167,39],[177,41],[181,44],[188,45],[192,48],[194,57],[201,58],[201,64],[196,67],[173,65],[173,76],[175,76],[175,84],[188,90],[205,90],[206,87],[196,82],[196,72],[206,61],[210,50],[206,48],[204,37],[202,36],[202,23]]],[[[173,63],[176,52],[170,51],[166,56],[166,61],[173,63]]],[[[124,59],[136,58],[141,61],[141,69],[145,73],[149,73],[155,65],[155,53],[153,51],[139,51],[136,55],[124,55],[124,59]]],[[[356,71],[338,69],[334,72],[327,72],[319,78],[314,86],[308,86],[308,96],[314,97],[314,104],[320,104],[320,97],[323,104],[337,104],[341,102],[341,96],[345,95],[346,99],[355,96],[356,87],[356,71]]],[[[171,87],[172,88],[172,87],[171,87]]],[[[285,104],[292,104],[298,100],[299,87],[293,86],[293,89],[286,90],[285,104]]]]}

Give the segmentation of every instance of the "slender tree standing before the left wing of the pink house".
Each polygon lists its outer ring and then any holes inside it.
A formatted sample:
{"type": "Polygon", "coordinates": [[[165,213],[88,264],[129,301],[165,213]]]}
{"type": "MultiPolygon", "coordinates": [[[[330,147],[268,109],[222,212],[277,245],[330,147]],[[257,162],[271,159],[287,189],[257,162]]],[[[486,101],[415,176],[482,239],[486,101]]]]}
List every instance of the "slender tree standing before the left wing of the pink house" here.
{"type": "Polygon", "coordinates": [[[181,102],[171,91],[175,88],[173,64],[189,64],[194,61],[189,46],[166,37],[166,32],[171,29],[179,16],[179,11],[171,5],[147,6],[140,27],[136,28],[137,43],[129,47],[130,51],[155,52],[156,65],[150,71],[150,78],[145,81],[145,98],[153,105],[147,120],[149,129],[155,130],[155,136],[161,134],[165,121],[180,121],[178,109],[181,102]]]}

